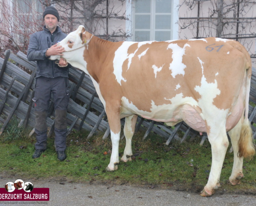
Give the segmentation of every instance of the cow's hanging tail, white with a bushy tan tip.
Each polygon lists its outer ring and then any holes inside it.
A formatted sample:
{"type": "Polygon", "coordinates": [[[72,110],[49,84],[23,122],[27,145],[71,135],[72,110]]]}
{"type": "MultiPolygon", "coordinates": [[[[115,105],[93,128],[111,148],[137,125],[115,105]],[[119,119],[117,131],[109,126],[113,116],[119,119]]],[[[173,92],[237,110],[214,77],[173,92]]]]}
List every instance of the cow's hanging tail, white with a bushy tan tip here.
{"type": "MultiPolygon", "coordinates": [[[[243,52],[244,53],[244,52],[243,52]]],[[[245,53],[244,53],[245,54],[245,53]]],[[[238,156],[251,158],[255,154],[255,146],[252,138],[251,124],[248,119],[249,111],[249,93],[251,84],[251,59],[246,51],[246,101],[245,101],[245,118],[242,124],[242,129],[240,132],[240,139],[238,141],[238,156]]]]}

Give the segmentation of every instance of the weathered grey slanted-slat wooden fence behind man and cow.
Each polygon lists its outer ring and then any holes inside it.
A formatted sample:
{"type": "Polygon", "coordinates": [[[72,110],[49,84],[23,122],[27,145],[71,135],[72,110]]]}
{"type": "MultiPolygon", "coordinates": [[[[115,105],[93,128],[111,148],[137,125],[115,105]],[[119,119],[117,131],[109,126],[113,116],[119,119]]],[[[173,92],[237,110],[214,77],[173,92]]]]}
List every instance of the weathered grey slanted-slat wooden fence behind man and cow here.
{"type": "MultiPolygon", "coordinates": [[[[19,126],[35,127],[35,113],[33,108],[34,89],[35,89],[35,71],[36,63],[27,60],[26,55],[19,52],[17,55],[5,53],[5,59],[0,58],[0,122],[3,123],[0,135],[6,128],[13,115],[20,119],[19,126]],[[19,66],[18,66],[19,65],[19,66]],[[20,67],[23,67],[21,69],[20,67]]],[[[229,77],[227,77],[229,78],[229,77]]],[[[71,68],[69,72],[70,100],[68,105],[68,134],[72,129],[85,129],[90,131],[87,139],[91,138],[95,132],[105,132],[103,139],[110,134],[107,116],[101,104],[91,78],[77,68],[71,68]]],[[[256,104],[256,69],[252,70],[250,101],[256,104]]],[[[256,123],[256,107],[249,106],[249,120],[256,123]]],[[[124,125],[124,119],[121,121],[124,125]]],[[[47,126],[49,127],[48,136],[54,129],[54,108],[53,101],[50,102],[50,108],[47,117],[47,126]]],[[[185,122],[177,124],[175,127],[168,127],[163,123],[149,121],[138,117],[135,132],[143,131],[144,139],[150,132],[154,132],[167,140],[168,145],[173,138],[184,142],[188,137],[190,140],[201,138],[201,145],[207,139],[207,134],[199,135],[186,125],[185,122]],[[182,131],[180,133],[178,131],[182,131]],[[178,135],[178,133],[179,135],[178,135]],[[182,134],[182,135],[180,135],[182,134]]],[[[253,138],[256,136],[256,128],[252,125],[253,138]]],[[[34,129],[31,131],[31,135],[34,129]]],[[[122,136],[124,138],[124,136],[122,136]]]]}

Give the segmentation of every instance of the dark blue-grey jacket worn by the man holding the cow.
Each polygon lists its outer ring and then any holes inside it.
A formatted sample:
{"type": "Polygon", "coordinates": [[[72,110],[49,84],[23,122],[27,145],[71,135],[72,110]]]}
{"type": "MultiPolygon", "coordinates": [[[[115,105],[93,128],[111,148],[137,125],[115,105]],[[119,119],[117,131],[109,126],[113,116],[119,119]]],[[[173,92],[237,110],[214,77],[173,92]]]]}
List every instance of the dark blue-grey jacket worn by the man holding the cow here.
{"type": "Polygon", "coordinates": [[[42,31],[35,32],[31,35],[27,49],[27,59],[29,61],[37,61],[36,77],[68,77],[69,65],[67,67],[59,67],[55,61],[46,57],[46,50],[53,44],[62,41],[67,35],[57,26],[53,34],[43,27],[42,31]],[[56,32],[56,33],[55,33],[56,32]]]}

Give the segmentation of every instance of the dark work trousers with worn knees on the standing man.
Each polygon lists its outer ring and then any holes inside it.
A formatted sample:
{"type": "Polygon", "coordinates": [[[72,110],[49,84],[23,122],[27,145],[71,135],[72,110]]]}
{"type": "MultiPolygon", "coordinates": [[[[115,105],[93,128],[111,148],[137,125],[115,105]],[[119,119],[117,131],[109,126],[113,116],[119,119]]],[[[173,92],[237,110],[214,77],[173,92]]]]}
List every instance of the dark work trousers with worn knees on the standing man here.
{"type": "Polygon", "coordinates": [[[69,101],[68,78],[38,77],[36,78],[35,96],[33,98],[36,114],[36,144],[35,149],[47,148],[47,114],[53,94],[55,110],[55,150],[66,149],[67,138],[67,107],[69,101]]]}

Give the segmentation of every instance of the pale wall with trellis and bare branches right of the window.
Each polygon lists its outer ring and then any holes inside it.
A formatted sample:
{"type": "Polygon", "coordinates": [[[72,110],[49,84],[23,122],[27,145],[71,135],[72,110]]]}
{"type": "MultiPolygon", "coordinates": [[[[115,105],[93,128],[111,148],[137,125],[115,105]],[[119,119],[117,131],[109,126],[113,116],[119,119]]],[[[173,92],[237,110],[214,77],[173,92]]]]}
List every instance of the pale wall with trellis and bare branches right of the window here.
{"type": "MultiPolygon", "coordinates": [[[[212,36],[235,39],[255,57],[255,5],[251,0],[184,0],[179,5],[179,12],[184,13],[179,19],[180,39],[212,36]]],[[[256,59],[252,62],[255,66],[256,59]]]]}

